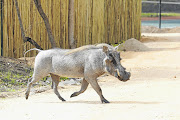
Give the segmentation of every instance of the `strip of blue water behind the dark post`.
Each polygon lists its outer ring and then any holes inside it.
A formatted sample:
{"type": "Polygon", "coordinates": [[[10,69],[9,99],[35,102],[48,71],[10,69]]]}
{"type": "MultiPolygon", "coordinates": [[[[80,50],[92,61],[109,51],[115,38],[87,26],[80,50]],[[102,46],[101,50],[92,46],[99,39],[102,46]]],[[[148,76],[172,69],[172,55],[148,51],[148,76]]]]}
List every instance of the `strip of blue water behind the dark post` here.
{"type": "MultiPolygon", "coordinates": [[[[151,21],[141,21],[142,26],[155,26],[159,27],[158,20],[151,20],[151,21]]],[[[162,20],[161,21],[161,28],[174,28],[180,27],[180,19],[177,20],[162,20]]]]}

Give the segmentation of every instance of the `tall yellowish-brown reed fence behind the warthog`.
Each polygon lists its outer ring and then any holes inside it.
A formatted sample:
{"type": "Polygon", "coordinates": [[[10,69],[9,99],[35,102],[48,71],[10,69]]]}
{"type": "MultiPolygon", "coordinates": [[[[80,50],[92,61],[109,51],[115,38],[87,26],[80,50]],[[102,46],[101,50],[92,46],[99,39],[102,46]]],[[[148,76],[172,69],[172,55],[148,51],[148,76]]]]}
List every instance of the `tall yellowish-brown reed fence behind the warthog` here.
{"type": "MultiPolygon", "coordinates": [[[[23,57],[30,43],[23,43],[14,0],[1,0],[0,55],[23,57]],[[1,43],[3,45],[1,45],[1,43]]],[[[69,0],[41,0],[49,18],[58,47],[69,48],[68,8],[69,0]]],[[[47,31],[33,0],[18,0],[25,34],[43,49],[51,48],[47,31]]],[[[141,36],[141,0],[75,0],[74,38],[76,46],[95,43],[115,44],[141,36]]],[[[35,56],[30,52],[27,56],[35,56]]]]}

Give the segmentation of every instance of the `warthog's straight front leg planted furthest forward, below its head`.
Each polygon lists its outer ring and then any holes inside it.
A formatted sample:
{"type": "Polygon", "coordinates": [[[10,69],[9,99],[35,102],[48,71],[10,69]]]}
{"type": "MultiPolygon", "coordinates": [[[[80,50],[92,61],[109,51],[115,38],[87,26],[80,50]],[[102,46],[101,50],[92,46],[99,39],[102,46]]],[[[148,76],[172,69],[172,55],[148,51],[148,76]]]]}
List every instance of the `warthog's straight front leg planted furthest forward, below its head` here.
{"type": "Polygon", "coordinates": [[[91,84],[92,88],[97,92],[97,94],[99,95],[101,102],[102,103],[110,103],[108,100],[106,100],[102,94],[102,90],[97,82],[97,80],[88,80],[88,82],[91,84]]]}

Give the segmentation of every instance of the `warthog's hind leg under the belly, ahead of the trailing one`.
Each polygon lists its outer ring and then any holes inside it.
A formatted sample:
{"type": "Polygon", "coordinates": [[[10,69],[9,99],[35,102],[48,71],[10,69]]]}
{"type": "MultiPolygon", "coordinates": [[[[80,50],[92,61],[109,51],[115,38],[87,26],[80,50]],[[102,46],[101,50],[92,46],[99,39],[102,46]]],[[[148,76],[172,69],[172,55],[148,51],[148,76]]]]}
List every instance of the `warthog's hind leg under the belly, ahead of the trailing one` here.
{"type": "Polygon", "coordinates": [[[52,78],[52,81],[53,81],[53,83],[54,83],[54,87],[53,87],[54,93],[58,96],[58,98],[59,98],[60,100],[66,101],[64,98],[61,97],[61,95],[59,94],[59,92],[58,92],[58,90],[57,90],[60,76],[51,74],[51,78],[52,78]]]}

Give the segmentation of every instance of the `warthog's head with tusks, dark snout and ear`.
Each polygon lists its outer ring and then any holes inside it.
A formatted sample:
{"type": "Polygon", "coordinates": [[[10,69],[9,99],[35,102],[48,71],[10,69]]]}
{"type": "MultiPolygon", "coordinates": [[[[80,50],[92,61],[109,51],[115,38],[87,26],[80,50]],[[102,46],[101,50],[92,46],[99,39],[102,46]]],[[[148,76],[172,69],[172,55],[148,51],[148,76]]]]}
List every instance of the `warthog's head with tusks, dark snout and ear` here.
{"type": "Polygon", "coordinates": [[[105,70],[121,81],[129,80],[131,73],[126,72],[126,68],[121,65],[120,53],[116,50],[109,50],[106,46],[103,46],[103,52],[106,54],[103,61],[105,70]]]}

